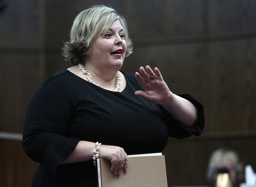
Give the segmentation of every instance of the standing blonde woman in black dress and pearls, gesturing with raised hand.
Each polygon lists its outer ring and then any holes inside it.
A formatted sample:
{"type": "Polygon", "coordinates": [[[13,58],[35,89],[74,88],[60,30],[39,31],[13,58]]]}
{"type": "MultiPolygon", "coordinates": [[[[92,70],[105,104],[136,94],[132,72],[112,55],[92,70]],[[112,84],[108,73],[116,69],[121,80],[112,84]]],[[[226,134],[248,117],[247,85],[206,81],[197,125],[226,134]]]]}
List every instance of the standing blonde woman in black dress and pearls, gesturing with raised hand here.
{"type": "Polygon", "coordinates": [[[174,95],[157,68],[119,71],[131,53],[126,21],[114,9],[77,15],[63,48],[76,66],[43,82],[28,107],[24,150],[41,164],[32,186],[97,186],[98,156],[120,174],[129,169],[127,154],[162,152],[168,136],[201,134],[203,106],[174,95]]]}

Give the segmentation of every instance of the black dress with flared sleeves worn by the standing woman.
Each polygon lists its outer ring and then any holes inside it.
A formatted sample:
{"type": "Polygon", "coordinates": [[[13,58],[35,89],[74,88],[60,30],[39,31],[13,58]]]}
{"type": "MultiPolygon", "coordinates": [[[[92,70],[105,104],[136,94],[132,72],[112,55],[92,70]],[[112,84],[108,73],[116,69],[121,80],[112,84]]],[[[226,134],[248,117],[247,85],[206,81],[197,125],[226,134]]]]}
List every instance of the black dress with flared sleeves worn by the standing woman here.
{"type": "Polygon", "coordinates": [[[168,136],[199,136],[204,111],[195,97],[180,95],[199,111],[193,128],[185,128],[160,105],[136,96],[144,90],[135,74],[122,72],[122,92],[102,89],[63,69],[37,89],[26,115],[25,153],[40,163],[32,186],[96,187],[93,161],[59,165],[80,140],[124,148],[127,154],[162,152],[168,136]]]}

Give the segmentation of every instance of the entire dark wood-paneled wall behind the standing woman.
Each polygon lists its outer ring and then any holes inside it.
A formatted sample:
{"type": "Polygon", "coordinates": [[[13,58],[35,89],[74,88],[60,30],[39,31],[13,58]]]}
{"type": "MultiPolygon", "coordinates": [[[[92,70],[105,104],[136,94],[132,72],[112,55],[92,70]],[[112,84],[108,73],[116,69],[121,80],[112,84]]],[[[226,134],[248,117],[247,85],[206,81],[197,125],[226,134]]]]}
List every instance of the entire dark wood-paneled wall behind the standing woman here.
{"type": "MultiPolygon", "coordinates": [[[[221,146],[256,170],[255,0],[0,0],[0,132],[20,137],[36,88],[71,66],[60,49],[73,19],[94,4],[127,19],[134,52],[122,70],[157,66],[172,91],[204,104],[203,134],[170,138],[163,152],[168,185],[207,185],[221,146]]],[[[0,138],[0,186],[30,186],[37,167],[20,138],[0,138]]]]}

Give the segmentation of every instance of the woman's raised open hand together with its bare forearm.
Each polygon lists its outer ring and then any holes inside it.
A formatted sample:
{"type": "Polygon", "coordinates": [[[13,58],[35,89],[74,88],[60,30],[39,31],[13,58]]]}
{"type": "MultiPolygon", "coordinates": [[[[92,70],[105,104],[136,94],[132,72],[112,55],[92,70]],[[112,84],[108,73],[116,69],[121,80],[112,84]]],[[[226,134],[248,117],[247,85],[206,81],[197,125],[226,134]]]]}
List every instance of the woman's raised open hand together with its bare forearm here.
{"type": "Polygon", "coordinates": [[[136,72],[140,84],[144,87],[145,92],[138,90],[135,95],[144,97],[150,102],[163,106],[176,120],[182,122],[184,126],[192,127],[197,119],[196,107],[187,99],[173,94],[157,67],[155,72],[146,66],[146,70],[140,67],[141,75],[136,72]],[[147,72],[146,72],[147,70],[147,72]]]}

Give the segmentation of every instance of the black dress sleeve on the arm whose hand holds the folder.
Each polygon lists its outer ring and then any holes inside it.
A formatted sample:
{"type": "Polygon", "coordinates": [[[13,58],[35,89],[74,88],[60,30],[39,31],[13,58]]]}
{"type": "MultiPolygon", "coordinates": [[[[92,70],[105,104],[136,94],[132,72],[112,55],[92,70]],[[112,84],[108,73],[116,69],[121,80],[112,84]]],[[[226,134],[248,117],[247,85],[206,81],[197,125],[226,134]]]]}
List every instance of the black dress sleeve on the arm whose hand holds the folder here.
{"type": "Polygon", "coordinates": [[[55,174],[80,139],[67,137],[72,115],[69,91],[58,79],[48,79],[37,89],[28,106],[23,129],[23,148],[32,160],[55,174]]]}

